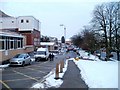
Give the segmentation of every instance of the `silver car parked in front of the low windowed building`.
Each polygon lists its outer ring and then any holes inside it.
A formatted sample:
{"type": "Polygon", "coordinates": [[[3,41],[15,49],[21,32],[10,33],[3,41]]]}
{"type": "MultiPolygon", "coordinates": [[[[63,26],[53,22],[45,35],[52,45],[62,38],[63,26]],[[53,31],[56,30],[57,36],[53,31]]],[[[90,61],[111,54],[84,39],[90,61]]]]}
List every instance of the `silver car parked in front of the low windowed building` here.
{"type": "Polygon", "coordinates": [[[16,56],[10,59],[10,65],[25,66],[26,64],[31,64],[31,63],[32,63],[31,58],[27,53],[17,54],[16,56]]]}

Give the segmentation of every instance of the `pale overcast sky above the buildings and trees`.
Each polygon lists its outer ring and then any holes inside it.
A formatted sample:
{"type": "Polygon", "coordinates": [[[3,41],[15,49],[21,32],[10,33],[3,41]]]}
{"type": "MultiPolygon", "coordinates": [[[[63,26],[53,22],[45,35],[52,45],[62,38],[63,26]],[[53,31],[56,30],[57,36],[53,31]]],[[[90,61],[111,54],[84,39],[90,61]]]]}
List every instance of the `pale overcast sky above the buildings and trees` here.
{"type": "Polygon", "coordinates": [[[41,22],[41,34],[61,39],[66,26],[66,38],[81,31],[92,18],[96,5],[119,0],[0,0],[0,8],[8,15],[34,16],[41,22]]]}

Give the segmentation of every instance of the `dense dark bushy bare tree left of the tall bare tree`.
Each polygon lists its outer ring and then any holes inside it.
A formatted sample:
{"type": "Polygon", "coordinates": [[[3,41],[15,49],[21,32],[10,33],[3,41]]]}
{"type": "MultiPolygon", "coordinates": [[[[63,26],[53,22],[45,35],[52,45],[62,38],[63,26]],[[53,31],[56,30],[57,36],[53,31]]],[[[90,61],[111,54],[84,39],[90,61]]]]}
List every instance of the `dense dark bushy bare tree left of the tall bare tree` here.
{"type": "Polygon", "coordinates": [[[83,31],[77,35],[74,35],[71,40],[76,46],[91,51],[92,53],[97,48],[94,32],[89,26],[84,26],[83,31]]]}

